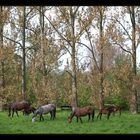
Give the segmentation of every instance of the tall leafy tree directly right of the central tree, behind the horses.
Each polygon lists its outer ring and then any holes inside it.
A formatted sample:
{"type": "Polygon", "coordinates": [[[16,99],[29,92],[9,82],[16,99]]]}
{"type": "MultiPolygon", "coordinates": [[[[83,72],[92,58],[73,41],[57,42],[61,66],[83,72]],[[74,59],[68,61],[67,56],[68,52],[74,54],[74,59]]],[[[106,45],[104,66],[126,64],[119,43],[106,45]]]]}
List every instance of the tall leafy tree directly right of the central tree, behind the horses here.
{"type": "Polygon", "coordinates": [[[89,25],[88,28],[85,28],[85,32],[87,34],[87,40],[89,41],[89,46],[86,45],[85,43],[79,42],[79,44],[85,46],[88,51],[91,53],[91,61],[94,62],[95,64],[95,69],[94,71],[99,72],[99,106],[102,108],[104,106],[104,53],[105,53],[105,44],[106,44],[106,38],[105,38],[105,12],[107,12],[107,8],[103,6],[98,6],[98,7],[89,7],[89,11],[92,14],[93,18],[91,21],[91,24],[89,25]],[[93,20],[94,19],[94,20],[93,20]],[[97,25],[97,26],[95,26],[97,25]],[[98,30],[99,29],[99,30],[98,30]],[[97,33],[96,35],[93,33],[91,34],[91,30],[96,30],[97,33]],[[97,37],[95,37],[97,36],[97,37]],[[99,54],[99,57],[95,53],[95,48],[96,48],[96,53],[99,54]]]}

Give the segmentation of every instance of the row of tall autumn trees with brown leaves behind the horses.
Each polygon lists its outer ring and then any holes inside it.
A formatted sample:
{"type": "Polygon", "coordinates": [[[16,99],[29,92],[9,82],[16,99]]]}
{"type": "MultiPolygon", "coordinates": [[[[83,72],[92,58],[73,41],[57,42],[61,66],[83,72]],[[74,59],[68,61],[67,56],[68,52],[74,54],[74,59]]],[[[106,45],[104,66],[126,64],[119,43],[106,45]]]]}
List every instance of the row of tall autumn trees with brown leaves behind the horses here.
{"type": "Polygon", "coordinates": [[[138,6],[1,6],[1,101],[101,108],[119,97],[137,113],[139,13],[138,6]]]}

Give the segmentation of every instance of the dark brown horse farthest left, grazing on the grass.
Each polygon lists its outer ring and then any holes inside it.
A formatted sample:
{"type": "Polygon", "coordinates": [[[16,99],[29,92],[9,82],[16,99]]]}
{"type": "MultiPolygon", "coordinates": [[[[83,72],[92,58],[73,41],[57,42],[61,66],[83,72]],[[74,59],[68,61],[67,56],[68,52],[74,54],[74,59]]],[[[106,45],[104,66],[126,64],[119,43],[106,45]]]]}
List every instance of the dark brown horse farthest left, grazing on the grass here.
{"type": "Polygon", "coordinates": [[[21,110],[26,110],[30,107],[30,104],[27,102],[27,101],[21,101],[21,102],[14,102],[12,104],[9,105],[9,114],[8,116],[14,116],[14,112],[16,112],[17,116],[19,117],[18,115],[18,111],[21,111],[21,110]],[[11,114],[11,111],[12,111],[12,114],[11,114]]]}

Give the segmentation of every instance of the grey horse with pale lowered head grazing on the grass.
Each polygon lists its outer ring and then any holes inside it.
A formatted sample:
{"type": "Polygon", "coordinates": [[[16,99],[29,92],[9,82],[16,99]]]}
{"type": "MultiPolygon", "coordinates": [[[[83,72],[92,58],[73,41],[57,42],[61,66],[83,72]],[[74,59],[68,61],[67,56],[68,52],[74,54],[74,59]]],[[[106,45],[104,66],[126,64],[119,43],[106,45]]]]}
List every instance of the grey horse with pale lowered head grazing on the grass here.
{"type": "Polygon", "coordinates": [[[44,121],[43,114],[48,114],[50,113],[52,120],[56,118],[56,106],[54,104],[47,104],[44,106],[39,107],[34,111],[34,115],[32,117],[32,121],[35,121],[35,118],[37,115],[40,115],[40,121],[44,121]]]}

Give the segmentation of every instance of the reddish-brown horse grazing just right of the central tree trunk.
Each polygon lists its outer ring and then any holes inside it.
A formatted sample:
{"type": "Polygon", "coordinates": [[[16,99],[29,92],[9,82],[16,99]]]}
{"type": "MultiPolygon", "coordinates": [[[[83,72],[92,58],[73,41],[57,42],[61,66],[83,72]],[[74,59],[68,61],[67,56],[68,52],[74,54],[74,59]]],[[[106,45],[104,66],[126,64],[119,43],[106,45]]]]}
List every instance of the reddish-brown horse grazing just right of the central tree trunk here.
{"type": "Polygon", "coordinates": [[[71,123],[72,122],[72,118],[74,116],[76,116],[77,118],[77,122],[78,119],[80,119],[81,123],[82,119],[81,117],[88,115],[88,121],[90,120],[90,116],[92,115],[92,121],[94,120],[94,115],[95,115],[95,110],[93,107],[91,106],[86,106],[86,107],[76,107],[72,109],[72,113],[70,114],[70,116],[68,117],[68,122],[71,123]]]}

